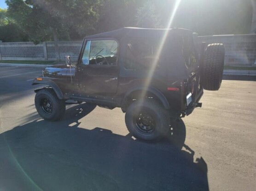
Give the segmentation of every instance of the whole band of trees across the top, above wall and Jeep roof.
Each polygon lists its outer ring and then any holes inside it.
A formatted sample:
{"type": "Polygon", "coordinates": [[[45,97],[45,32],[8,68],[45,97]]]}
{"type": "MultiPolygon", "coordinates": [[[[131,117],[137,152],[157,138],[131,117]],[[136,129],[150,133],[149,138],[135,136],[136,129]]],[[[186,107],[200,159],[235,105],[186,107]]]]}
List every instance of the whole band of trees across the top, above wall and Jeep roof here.
{"type": "MultiPolygon", "coordinates": [[[[6,0],[5,14],[23,29],[29,40],[38,43],[53,39],[77,40],[128,26],[166,28],[177,2],[6,0]]],[[[251,0],[181,0],[171,27],[188,28],[199,35],[246,34],[250,32],[251,17],[251,0]]]]}

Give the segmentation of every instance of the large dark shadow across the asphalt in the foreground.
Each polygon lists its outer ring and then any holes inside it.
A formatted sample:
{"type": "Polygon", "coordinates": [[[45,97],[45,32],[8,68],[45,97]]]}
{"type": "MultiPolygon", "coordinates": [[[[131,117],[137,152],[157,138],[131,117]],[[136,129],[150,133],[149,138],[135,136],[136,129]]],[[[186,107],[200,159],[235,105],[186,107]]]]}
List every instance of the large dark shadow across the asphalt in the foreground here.
{"type": "Polygon", "coordinates": [[[0,190],[209,190],[207,164],[203,158],[194,162],[184,145],[183,122],[163,141],[145,143],[99,127],[88,130],[87,124],[77,128],[92,110],[77,105],[62,121],[35,120],[2,133],[0,190]]]}

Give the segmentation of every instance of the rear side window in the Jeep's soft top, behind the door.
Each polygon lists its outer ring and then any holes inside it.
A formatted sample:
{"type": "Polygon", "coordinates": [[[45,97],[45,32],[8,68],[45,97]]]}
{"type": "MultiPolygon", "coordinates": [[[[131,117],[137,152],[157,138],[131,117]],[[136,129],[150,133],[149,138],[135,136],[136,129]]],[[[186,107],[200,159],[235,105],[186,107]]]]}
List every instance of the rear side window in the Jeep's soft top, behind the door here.
{"type": "Polygon", "coordinates": [[[129,70],[159,69],[158,45],[155,39],[130,39],[124,67],[129,70]]]}

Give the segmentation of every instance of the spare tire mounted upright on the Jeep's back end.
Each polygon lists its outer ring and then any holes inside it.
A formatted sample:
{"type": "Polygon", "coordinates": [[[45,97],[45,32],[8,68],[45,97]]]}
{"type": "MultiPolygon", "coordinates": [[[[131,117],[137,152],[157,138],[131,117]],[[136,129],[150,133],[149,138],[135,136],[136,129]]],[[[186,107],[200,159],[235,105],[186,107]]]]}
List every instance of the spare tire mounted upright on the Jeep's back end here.
{"type": "Polygon", "coordinates": [[[225,49],[220,43],[210,44],[204,51],[202,62],[202,85],[205,90],[219,90],[224,69],[225,49]]]}

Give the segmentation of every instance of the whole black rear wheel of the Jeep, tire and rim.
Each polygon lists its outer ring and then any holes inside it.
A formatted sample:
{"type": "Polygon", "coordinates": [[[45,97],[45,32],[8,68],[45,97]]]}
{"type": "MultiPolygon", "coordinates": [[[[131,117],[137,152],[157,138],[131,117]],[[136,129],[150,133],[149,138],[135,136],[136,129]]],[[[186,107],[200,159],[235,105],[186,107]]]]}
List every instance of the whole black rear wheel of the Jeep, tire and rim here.
{"type": "Polygon", "coordinates": [[[135,138],[159,140],[169,130],[169,112],[154,100],[134,101],[126,111],[125,123],[135,138]]]}

